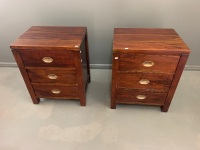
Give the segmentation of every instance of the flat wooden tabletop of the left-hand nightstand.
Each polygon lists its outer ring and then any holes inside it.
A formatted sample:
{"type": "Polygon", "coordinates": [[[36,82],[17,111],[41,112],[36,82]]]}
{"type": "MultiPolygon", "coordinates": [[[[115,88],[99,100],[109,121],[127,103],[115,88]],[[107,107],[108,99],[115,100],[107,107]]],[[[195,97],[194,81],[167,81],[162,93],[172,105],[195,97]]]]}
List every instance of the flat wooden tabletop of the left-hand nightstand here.
{"type": "Polygon", "coordinates": [[[10,47],[22,50],[80,50],[86,31],[86,27],[32,26],[10,47]]]}

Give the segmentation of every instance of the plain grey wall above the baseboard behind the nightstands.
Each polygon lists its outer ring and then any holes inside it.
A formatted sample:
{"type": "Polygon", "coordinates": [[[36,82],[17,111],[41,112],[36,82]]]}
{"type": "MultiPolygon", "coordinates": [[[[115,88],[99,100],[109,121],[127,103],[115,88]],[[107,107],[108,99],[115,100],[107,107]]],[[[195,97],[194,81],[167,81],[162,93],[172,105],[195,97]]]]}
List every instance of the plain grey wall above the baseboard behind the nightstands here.
{"type": "Polygon", "coordinates": [[[0,0],[0,62],[15,62],[9,45],[33,25],[87,26],[90,62],[110,64],[114,27],[174,28],[200,66],[200,0],[0,0]]]}

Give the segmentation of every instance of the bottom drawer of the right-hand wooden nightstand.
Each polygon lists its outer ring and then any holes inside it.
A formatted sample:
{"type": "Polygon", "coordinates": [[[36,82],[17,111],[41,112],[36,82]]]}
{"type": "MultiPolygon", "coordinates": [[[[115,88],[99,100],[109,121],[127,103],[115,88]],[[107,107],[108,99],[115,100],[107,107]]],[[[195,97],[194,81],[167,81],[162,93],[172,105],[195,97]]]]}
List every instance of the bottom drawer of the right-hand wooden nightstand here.
{"type": "Polygon", "coordinates": [[[118,89],[116,103],[163,106],[167,93],[151,93],[142,90],[118,89]]]}

